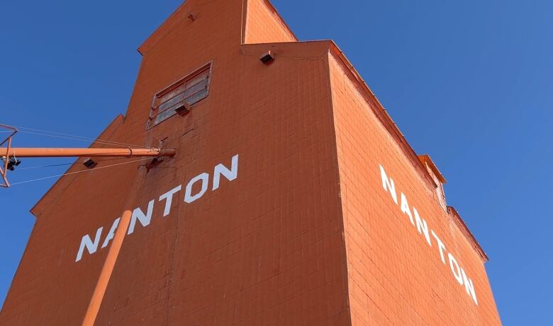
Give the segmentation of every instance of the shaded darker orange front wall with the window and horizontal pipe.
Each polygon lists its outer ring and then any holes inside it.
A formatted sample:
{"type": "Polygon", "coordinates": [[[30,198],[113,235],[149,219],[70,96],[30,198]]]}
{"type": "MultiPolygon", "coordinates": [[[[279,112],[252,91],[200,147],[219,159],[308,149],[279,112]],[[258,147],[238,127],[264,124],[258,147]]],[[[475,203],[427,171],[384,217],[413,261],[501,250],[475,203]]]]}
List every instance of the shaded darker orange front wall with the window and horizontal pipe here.
{"type": "MultiPolygon", "coordinates": [[[[168,137],[177,156],[150,173],[134,163],[60,180],[35,207],[1,325],[78,325],[107,252],[75,262],[82,236],[150,199],[150,226],[125,238],[96,325],[347,324],[328,42],[240,45],[241,2],[186,1],[140,47],[125,120],[108,139],[168,137]],[[267,50],[279,56],[271,66],[259,62],[267,50]],[[146,131],[153,95],[206,62],[208,98],[146,131]],[[191,204],[179,192],[162,216],[161,194],[236,154],[237,179],[191,204]]],[[[272,40],[274,24],[264,28],[272,40]]]]}

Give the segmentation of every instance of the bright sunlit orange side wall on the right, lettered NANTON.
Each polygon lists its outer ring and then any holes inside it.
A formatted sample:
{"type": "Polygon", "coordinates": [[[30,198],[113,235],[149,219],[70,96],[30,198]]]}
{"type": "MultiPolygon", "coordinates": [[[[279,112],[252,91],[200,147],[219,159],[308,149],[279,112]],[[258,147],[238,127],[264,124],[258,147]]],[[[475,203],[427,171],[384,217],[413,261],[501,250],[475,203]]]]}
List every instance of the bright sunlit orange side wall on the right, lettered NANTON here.
{"type": "MultiPolygon", "coordinates": [[[[330,59],[354,325],[500,325],[484,264],[420,168],[374,113],[350,67],[330,59]],[[382,165],[474,282],[478,305],[382,186],[382,165]]],[[[431,236],[432,237],[432,236],[431,236]]]]}

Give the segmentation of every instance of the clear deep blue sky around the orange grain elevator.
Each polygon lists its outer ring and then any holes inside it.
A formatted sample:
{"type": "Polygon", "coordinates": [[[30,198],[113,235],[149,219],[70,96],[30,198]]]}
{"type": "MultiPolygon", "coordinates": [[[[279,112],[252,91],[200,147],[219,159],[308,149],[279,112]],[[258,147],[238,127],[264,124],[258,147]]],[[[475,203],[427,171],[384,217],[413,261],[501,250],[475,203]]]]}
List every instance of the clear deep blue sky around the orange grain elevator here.
{"type": "MultiPolygon", "coordinates": [[[[3,1],[0,123],[94,137],[125,112],[136,48],[180,1],[3,1]]],[[[333,39],[490,257],[505,325],[551,322],[552,1],[274,0],[301,40],[333,39]]],[[[21,135],[18,146],[86,146],[21,135]]],[[[21,167],[71,162],[28,159],[21,167]]],[[[63,173],[20,170],[12,181],[63,173]]],[[[0,302],[55,179],[0,190],[0,302]]]]}

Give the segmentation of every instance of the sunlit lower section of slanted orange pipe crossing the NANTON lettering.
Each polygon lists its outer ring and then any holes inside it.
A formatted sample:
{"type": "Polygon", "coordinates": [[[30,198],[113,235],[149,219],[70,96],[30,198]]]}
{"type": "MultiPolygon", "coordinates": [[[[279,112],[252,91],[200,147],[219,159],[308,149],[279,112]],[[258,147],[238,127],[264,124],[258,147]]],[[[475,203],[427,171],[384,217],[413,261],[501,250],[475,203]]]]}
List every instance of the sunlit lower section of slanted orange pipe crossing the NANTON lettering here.
{"type": "Polygon", "coordinates": [[[104,294],[108,287],[109,279],[111,279],[111,273],[113,272],[113,267],[115,267],[117,257],[121,251],[121,246],[123,245],[123,239],[125,238],[125,233],[127,233],[128,225],[130,224],[130,216],[132,212],[126,210],[119,220],[119,226],[117,227],[116,234],[113,236],[111,246],[108,251],[108,257],[106,257],[106,262],[104,262],[104,267],[100,273],[100,278],[98,283],[96,283],[96,288],[90,299],[89,307],[86,309],[86,314],[82,321],[82,326],[94,326],[96,321],[96,316],[100,310],[100,305],[104,299],[104,294]]]}

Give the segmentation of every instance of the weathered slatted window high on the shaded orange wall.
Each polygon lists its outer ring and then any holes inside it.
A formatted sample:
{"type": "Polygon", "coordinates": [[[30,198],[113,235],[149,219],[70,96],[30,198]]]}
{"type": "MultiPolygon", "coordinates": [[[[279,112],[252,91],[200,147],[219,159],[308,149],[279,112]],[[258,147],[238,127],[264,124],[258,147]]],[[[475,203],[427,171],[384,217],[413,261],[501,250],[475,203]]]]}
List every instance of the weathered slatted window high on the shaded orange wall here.
{"type": "Polygon", "coordinates": [[[154,127],[169,117],[177,114],[175,109],[185,103],[194,105],[207,97],[209,93],[209,80],[211,76],[211,64],[197,69],[192,74],[165,88],[154,96],[150,120],[146,129],[154,127]]]}

